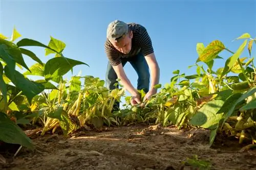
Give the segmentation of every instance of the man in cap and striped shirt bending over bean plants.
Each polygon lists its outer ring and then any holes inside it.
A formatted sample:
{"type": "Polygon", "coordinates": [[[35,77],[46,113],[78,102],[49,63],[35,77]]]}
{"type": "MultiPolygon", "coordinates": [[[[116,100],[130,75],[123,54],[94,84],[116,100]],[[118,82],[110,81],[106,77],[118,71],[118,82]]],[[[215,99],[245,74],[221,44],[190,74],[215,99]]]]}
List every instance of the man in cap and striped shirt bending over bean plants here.
{"type": "MultiPolygon", "coordinates": [[[[109,24],[106,38],[104,49],[109,59],[106,70],[106,86],[108,89],[115,89],[116,80],[120,79],[120,83],[132,94],[132,105],[141,103],[141,96],[137,89],[143,89],[146,93],[144,101],[150,99],[157,92],[154,86],[159,83],[160,69],[147,30],[138,23],[127,24],[115,20],[109,24]],[[137,72],[137,89],[133,87],[125,75],[123,66],[127,62],[130,62],[137,72]],[[148,67],[152,76],[151,86],[148,67]]],[[[119,108],[119,103],[116,105],[119,108]]]]}

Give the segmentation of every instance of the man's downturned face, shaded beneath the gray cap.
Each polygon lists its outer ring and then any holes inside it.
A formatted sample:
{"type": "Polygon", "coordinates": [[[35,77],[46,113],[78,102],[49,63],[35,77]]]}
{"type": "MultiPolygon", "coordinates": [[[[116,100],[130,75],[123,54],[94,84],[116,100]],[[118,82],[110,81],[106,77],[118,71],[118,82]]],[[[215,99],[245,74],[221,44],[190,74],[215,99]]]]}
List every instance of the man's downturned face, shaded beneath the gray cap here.
{"type": "Polygon", "coordinates": [[[133,32],[131,31],[118,41],[112,42],[114,47],[123,54],[130,53],[132,49],[132,38],[133,38],[133,32]]]}

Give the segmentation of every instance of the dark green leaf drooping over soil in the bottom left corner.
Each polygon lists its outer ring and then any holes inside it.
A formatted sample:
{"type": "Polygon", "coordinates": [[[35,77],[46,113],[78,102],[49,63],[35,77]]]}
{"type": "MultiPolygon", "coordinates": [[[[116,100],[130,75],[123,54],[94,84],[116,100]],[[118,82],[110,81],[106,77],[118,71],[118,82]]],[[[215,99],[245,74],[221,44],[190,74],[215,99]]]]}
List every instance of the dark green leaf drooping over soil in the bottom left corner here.
{"type": "Polygon", "coordinates": [[[0,112],[0,140],[34,149],[31,139],[3,112],[0,112]]]}

